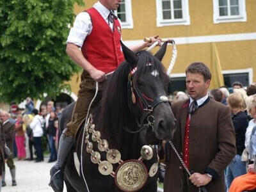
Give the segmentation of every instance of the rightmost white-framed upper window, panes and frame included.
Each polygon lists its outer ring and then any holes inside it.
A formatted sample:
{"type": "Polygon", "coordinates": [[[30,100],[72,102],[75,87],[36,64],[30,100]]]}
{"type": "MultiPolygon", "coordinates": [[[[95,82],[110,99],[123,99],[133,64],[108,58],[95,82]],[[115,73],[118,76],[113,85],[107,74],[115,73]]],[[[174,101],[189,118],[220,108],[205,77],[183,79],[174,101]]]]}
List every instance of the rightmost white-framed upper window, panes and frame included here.
{"type": "Polygon", "coordinates": [[[212,0],[214,6],[214,23],[245,22],[245,0],[212,0]]]}

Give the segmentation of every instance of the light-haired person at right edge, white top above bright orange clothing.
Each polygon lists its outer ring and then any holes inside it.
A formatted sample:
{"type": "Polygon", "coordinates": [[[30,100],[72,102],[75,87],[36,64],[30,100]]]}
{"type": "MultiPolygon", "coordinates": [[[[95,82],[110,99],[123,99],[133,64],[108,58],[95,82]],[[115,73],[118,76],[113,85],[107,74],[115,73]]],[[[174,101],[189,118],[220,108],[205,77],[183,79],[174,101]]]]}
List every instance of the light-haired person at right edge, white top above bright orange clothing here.
{"type": "Polygon", "coordinates": [[[247,102],[247,111],[252,116],[246,129],[245,147],[248,151],[248,166],[245,175],[233,180],[229,192],[242,192],[256,189],[256,94],[250,95],[247,102]]]}

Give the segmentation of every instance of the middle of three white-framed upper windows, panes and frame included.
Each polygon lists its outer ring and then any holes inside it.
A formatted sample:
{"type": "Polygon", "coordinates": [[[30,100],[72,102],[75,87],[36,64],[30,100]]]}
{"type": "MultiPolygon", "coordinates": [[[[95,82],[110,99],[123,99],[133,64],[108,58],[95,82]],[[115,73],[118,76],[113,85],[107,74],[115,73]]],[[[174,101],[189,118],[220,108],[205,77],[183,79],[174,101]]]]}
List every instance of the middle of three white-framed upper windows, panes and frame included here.
{"type": "Polygon", "coordinates": [[[157,27],[189,25],[188,0],[156,0],[157,27]]]}

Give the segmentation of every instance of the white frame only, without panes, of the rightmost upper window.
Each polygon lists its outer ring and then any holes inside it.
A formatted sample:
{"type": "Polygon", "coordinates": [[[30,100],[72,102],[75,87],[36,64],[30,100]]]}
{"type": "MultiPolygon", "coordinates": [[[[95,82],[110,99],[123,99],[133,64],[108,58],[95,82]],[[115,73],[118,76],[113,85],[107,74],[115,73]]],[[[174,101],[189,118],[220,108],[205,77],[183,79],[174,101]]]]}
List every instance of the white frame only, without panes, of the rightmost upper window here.
{"type": "MultiPolygon", "coordinates": [[[[228,0],[228,2],[229,1],[230,0],[228,0]]],[[[219,1],[212,0],[212,3],[213,3],[213,23],[214,24],[218,24],[221,22],[246,22],[247,21],[245,0],[238,0],[239,15],[231,15],[231,16],[220,16],[219,1]]]]}

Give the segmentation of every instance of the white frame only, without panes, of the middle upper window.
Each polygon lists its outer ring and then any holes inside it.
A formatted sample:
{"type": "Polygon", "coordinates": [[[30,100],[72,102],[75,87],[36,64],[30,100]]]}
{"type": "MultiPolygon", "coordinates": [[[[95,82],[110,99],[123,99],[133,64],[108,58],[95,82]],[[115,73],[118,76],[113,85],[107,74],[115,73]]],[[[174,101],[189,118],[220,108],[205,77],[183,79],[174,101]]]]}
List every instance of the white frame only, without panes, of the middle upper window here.
{"type": "MultiPolygon", "coordinates": [[[[173,0],[170,0],[171,3],[173,0]]],[[[176,26],[190,25],[189,4],[188,0],[181,0],[182,3],[182,19],[163,19],[162,0],[156,0],[156,26],[176,26]]]]}

